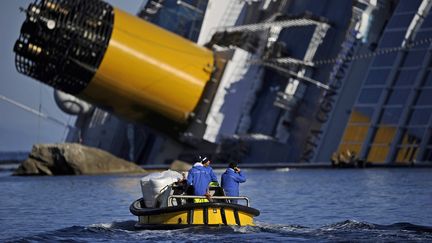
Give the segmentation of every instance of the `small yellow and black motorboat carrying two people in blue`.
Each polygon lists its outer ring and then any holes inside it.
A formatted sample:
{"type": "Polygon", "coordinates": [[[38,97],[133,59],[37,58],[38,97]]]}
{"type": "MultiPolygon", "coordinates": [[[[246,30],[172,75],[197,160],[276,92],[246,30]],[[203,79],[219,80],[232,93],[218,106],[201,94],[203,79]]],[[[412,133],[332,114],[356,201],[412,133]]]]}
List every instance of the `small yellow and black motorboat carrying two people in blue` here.
{"type": "Polygon", "coordinates": [[[204,196],[185,195],[175,184],[167,186],[157,199],[155,207],[146,207],[143,198],[130,206],[138,216],[135,225],[140,229],[175,229],[190,226],[253,226],[260,212],[249,207],[247,197],[225,196],[221,187],[210,187],[211,201],[204,196]],[[179,193],[179,191],[181,193],[179,193]],[[207,201],[196,203],[195,201],[207,201]],[[231,203],[231,200],[243,204],[231,203]]]}

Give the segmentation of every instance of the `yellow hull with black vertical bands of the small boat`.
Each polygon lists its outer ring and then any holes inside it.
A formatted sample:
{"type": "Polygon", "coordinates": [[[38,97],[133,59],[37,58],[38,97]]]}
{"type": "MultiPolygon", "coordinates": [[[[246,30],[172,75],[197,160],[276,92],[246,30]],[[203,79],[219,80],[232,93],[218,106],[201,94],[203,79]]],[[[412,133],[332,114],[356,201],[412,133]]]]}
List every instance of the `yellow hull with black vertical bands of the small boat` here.
{"type": "Polygon", "coordinates": [[[141,199],[130,206],[138,216],[137,228],[184,228],[190,226],[253,226],[259,211],[239,204],[208,202],[188,203],[164,208],[143,208],[141,199]]]}

